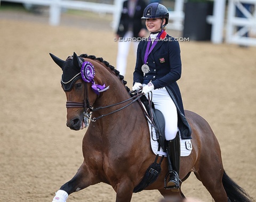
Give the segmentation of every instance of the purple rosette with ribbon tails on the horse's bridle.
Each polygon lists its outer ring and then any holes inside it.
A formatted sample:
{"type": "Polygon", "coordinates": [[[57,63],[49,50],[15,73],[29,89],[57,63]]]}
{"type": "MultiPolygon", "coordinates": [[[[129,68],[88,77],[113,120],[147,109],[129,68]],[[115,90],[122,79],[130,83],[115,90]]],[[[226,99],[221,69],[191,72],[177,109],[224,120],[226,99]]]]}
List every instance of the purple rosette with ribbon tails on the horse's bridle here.
{"type": "Polygon", "coordinates": [[[94,66],[92,63],[85,61],[82,64],[82,68],[81,68],[81,75],[82,75],[82,79],[84,80],[84,82],[86,83],[92,83],[92,90],[95,92],[95,94],[100,95],[100,92],[103,92],[107,89],[109,89],[109,86],[106,87],[105,83],[103,84],[103,86],[96,84],[94,82],[94,75],[95,75],[95,70],[94,70],[94,66]]]}

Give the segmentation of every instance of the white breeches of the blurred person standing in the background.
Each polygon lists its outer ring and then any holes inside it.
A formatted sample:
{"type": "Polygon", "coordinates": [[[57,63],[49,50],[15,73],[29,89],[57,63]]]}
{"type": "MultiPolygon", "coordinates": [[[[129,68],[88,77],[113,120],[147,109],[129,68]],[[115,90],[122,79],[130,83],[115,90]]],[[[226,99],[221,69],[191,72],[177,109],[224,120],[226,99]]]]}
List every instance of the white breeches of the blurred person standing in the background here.
{"type": "MultiPolygon", "coordinates": [[[[133,43],[134,55],[137,53],[137,47],[139,41],[132,41],[133,33],[132,31],[127,31],[123,37],[123,41],[118,41],[118,53],[116,58],[116,69],[121,75],[125,75],[127,66],[127,56],[129,54],[129,49],[131,42],[133,43]]],[[[118,40],[118,39],[117,39],[118,40]]]]}

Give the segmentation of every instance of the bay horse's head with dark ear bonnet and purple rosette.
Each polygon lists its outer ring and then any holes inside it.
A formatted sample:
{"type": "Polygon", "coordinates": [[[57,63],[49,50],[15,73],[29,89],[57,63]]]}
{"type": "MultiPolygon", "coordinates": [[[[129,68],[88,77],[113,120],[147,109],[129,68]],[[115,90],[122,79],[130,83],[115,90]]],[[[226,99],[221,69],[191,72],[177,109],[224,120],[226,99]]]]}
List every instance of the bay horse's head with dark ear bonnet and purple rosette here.
{"type": "Polygon", "coordinates": [[[81,130],[87,127],[86,112],[97,99],[97,91],[106,89],[105,86],[94,82],[94,66],[76,53],[66,61],[50,54],[53,61],[62,69],[61,86],[67,97],[67,127],[81,130]],[[94,89],[92,89],[94,87],[94,89]],[[94,90],[94,91],[93,91],[94,90]]]}

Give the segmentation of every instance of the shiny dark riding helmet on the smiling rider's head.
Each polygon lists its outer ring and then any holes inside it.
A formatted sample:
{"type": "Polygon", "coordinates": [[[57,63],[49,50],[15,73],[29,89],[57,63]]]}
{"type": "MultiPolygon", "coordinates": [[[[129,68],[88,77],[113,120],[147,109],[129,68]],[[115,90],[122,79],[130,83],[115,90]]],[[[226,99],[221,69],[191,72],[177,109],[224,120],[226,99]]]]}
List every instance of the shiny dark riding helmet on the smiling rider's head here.
{"type": "Polygon", "coordinates": [[[162,29],[168,24],[169,21],[169,11],[166,7],[159,3],[149,4],[143,11],[143,17],[141,19],[148,18],[163,18],[165,19],[165,24],[162,26],[162,29]]]}

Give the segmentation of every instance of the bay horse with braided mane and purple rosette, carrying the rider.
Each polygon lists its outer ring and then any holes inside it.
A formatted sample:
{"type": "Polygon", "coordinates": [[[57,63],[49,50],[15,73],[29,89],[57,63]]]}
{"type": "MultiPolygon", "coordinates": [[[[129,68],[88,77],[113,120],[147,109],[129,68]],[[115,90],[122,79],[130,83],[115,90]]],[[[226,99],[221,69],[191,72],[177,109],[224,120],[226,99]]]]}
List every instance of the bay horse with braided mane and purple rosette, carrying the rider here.
{"type": "MultiPolygon", "coordinates": [[[[139,102],[131,101],[124,77],[103,58],[87,54],[78,57],[74,53],[64,61],[50,55],[63,71],[61,84],[67,97],[67,127],[81,130],[88,125],[82,144],[84,161],[60,190],[68,196],[104,182],[115,190],[116,202],[131,201],[134,188],[156,157],[139,102]]],[[[185,114],[192,131],[193,149],[189,156],[181,157],[180,189],[164,189],[168,172],[164,158],[161,173],[145,190],[157,189],[164,198],[173,196],[182,200],[185,196],[181,184],[194,172],[216,202],[252,201],[223,169],[220,145],[210,125],[194,112],[185,111],[185,114]]],[[[56,195],[53,201],[66,201],[67,196],[56,195]]]]}

